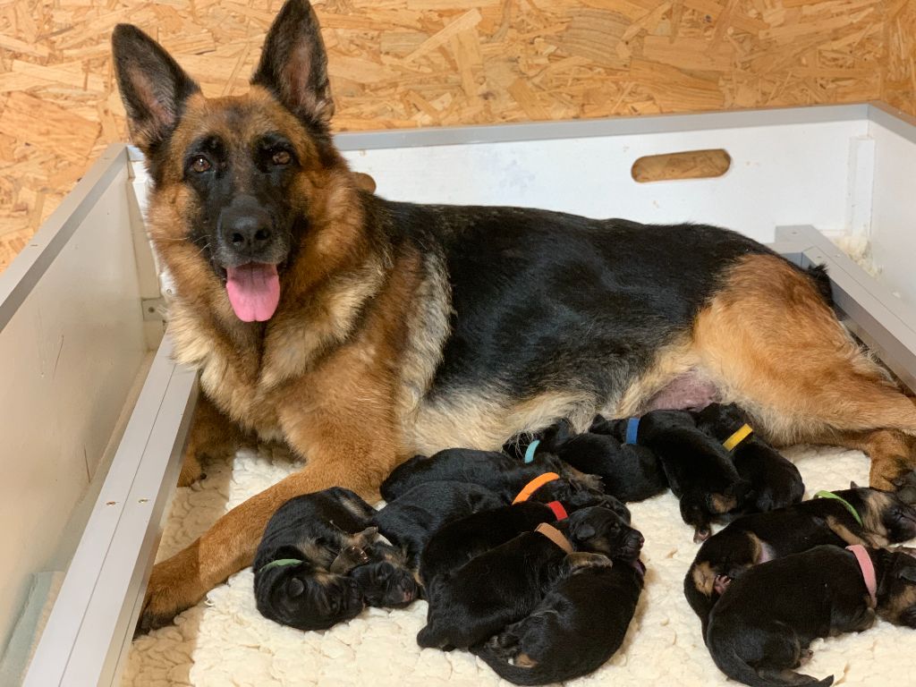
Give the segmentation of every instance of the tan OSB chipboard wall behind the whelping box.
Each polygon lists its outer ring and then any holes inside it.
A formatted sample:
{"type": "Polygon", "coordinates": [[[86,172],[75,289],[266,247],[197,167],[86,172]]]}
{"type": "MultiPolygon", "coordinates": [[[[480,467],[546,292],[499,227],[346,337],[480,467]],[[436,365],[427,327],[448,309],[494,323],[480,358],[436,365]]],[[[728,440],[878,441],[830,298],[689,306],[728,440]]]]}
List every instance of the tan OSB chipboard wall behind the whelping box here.
{"type": "MultiPolygon", "coordinates": [[[[916,0],[909,0],[914,2],[916,0]]],[[[912,99],[908,0],[324,0],[339,130],[912,99]],[[887,43],[888,89],[882,89],[887,43]],[[900,98],[898,98],[900,95],[900,98]]],[[[0,0],[0,268],[111,141],[108,40],[242,93],[280,0],[0,0]]]]}

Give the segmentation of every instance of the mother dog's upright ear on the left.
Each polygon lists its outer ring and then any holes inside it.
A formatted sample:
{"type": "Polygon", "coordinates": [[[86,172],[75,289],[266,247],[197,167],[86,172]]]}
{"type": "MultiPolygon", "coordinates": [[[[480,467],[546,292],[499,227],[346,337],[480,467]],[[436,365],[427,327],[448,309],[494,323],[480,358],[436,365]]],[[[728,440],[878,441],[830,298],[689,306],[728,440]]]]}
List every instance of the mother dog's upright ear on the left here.
{"type": "Polygon", "coordinates": [[[148,153],[171,136],[185,101],[201,89],[155,40],[130,24],[114,27],[112,53],[131,139],[148,153]]]}

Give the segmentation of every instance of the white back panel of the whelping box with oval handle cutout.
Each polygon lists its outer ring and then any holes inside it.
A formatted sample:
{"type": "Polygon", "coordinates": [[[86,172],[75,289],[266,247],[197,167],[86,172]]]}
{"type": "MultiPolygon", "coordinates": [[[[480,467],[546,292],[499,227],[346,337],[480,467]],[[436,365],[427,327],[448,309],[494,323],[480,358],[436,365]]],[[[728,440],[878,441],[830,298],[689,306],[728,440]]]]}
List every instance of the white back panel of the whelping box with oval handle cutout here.
{"type": "MultiPolygon", "coordinates": [[[[760,114],[765,121],[766,115],[760,114]]],[[[866,120],[714,130],[352,150],[376,193],[411,202],[509,204],[646,223],[721,224],[772,241],[780,224],[845,232],[850,139],[866,120]],[[640,157],[725,148],[709,180],[640,184],[640,157]]]]}

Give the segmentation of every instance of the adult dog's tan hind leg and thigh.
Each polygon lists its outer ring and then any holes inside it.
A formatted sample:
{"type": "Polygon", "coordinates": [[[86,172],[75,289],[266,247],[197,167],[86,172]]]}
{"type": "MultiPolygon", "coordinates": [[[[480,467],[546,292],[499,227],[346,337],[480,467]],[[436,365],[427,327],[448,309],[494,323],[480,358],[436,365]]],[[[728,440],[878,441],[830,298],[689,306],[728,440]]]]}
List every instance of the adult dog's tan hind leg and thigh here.
{"type": "Polygon", "coordinates": [[[893,488],[916,467],[916,405],[863,352],[807,275],[747,256],[693,328],[700,365],[771,442],[867,451],[871,483],[893,488]]]}

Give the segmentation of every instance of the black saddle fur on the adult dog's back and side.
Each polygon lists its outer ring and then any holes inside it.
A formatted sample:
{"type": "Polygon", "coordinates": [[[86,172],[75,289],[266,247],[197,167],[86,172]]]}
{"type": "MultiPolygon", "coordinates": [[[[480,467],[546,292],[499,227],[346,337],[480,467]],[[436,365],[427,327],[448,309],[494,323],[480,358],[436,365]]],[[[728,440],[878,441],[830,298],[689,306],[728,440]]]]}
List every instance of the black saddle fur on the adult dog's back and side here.
{"type": "Polygon", "coordinates": [[[440,246],[445,260],[452,334],[433,401],[440,389],[456,385],[527,398],[562,379],[564,387],[594,394],[596,408],[603,407],[651,365],[660,346],[692,328],[725,266],[741,256],[771,254],[747,237],[704,224],[373,200],[390,218],[389,230],[440,246]],[[519,340],[529,345],[518,346],[519,340]]]}

